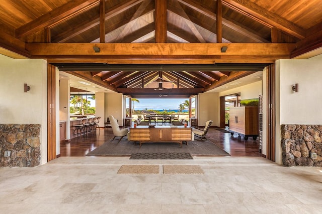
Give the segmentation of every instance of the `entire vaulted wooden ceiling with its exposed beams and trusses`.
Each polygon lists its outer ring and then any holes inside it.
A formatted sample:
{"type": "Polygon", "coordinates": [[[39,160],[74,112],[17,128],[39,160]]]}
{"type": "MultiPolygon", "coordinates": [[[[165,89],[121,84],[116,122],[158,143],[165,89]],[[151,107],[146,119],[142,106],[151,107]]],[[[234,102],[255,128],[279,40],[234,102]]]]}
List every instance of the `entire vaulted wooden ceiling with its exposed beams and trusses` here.
{"type": "Polygon", "coordinates": [[[0,53],[133,97],[202,93],[322,46],[320,0],[6,0],[0,17],[0,53]]]}

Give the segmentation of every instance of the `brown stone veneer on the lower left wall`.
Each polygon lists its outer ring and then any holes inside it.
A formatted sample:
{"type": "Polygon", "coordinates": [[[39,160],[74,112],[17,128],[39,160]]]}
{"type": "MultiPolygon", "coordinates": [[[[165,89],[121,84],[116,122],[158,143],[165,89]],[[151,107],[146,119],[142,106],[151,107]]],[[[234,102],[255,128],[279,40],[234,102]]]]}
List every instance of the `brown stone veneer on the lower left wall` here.
{"type": "Polygon", "coordinates": [[[0,167],[40,164],[40,124],[0,124],[0,167]],[[5,157],[5,151],[11,151],[5,157]]]}

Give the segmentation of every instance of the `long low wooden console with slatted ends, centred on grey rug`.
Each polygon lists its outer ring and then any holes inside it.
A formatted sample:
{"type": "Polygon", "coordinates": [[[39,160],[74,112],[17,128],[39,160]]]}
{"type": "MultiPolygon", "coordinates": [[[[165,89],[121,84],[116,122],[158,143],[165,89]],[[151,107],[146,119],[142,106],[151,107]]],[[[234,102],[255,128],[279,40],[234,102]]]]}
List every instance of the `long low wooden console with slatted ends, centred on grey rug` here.
{"type": "Polygon", "coordinates": [[[147,142],[174,142],[179,143],[182,148],[183,141],[192,140],[192,130],[191,127],[185,128],[184,126],[131,127],[129,140],[138,141],[140,148],[142,143],[147,142]]]}

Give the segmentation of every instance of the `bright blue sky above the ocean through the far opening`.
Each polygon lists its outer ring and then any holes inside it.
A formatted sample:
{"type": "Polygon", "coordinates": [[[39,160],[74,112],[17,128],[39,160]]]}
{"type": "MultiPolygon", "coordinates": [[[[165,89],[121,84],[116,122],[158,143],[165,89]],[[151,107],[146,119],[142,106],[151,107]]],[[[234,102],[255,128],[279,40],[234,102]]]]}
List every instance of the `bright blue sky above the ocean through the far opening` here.
{"type": "MultiPolygon", "coordinates": [[[[163,110],[163,109],[179,109],[179,105],[182,104],[185,100],[189,99],[138,99],[140,102],[134,102],[134,109],[135,110],[144,110],[147,109],[154,109],[154,110],[163,110]]],[[[132,102],[133,104],[133,102],[132,102]]],[[[128,103],[126,104],[128,106],[128,103]]],[[[194,107],[194,103],[192,104],[194,107]]],[[[132,106],[133,108],[133,106],[132,106]]]]}

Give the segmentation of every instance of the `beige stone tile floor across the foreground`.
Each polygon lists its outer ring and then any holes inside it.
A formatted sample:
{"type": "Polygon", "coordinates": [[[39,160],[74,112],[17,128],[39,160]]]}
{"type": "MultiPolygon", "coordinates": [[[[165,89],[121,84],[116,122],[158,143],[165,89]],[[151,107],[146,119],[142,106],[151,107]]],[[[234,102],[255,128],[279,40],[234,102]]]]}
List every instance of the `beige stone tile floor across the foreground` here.
{"type": "Polygon", "coordinates": [[[60,157],[0,168],[1,213],[322,213],[322,168],[262,157],[60,157]],[[122,164],[196,164],[204,174],[117,174],[122,164]]]}

